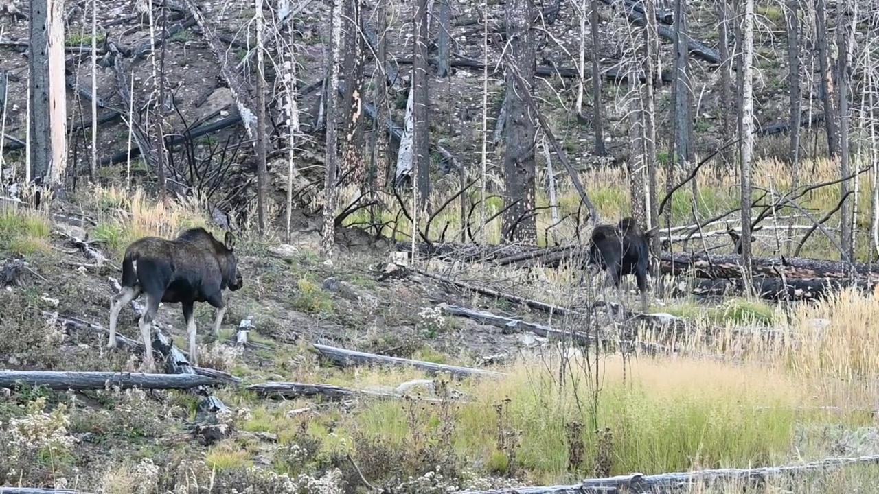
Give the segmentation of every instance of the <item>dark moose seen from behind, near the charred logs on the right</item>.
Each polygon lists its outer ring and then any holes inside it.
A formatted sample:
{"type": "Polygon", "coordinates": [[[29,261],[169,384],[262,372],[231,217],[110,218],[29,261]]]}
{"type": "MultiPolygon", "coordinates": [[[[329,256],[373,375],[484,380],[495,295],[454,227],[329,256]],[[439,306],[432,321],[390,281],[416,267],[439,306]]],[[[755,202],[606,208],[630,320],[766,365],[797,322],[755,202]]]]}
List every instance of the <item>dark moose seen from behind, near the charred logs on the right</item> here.
{"type": "Polygon", "coordinates": [[[598,266],[617,289],[623,275],[634,274],[641,293],[642,311],[647,311],[647,274],[650,273],[650,238],[657,229],[644,231],[635,218],[625,217],[616,225],[592,229],[587,265],[598,266]]]}

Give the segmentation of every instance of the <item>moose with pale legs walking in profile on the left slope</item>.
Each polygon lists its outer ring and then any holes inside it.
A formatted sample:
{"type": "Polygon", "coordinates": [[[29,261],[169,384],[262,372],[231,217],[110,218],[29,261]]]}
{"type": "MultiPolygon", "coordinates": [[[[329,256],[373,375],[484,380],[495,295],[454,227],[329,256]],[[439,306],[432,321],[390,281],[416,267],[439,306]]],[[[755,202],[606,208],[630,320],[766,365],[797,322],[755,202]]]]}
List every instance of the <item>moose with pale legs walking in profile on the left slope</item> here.
{"type": "Polygon", "coordinates": [[[207,301],[216,309],[214,335],[219,336],[226,314],[222,290],[229,287],[234,292],[244,286],[234,247],[235,236],[231,232],[226,232],[221,243],[203,228],[186,229],[172,240],[144,236],[128,245],[122,260],[122,289],[110,301],[107,348],[116,347],[116,324],[122,307],[145,293],[147,307],[138,323],[145,347],[145,367],[149,371],[156,369],[151,338],[159,302],[182,304],[190,360],[193,366],[197,365],[194,302],[207,301]]]}

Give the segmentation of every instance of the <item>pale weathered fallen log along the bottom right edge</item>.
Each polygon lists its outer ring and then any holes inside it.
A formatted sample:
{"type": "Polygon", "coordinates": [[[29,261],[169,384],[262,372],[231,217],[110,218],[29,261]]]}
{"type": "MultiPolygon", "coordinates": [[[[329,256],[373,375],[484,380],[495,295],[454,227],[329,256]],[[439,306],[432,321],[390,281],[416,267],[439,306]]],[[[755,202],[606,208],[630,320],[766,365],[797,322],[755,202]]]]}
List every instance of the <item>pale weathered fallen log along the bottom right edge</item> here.
{"type": "Polygon", "coordinates": [[[754,469],[710,469],[692,472],[674,472],[645,476],[635,473],[627,476],[585,479],[572,485],[552,485],[546,487],[516,487],[497,490],[461,490],[461,494],[573,494],[583,492],[657,492],[683,489],[693,483],[716,483],[747,481],[765,483],[770,476],[798,474],[822,469],[870,463],[879,463],[879,454],[847,458],[826,458],[802,465],[782,465],[779,467],[758,467],[754,469]]]}

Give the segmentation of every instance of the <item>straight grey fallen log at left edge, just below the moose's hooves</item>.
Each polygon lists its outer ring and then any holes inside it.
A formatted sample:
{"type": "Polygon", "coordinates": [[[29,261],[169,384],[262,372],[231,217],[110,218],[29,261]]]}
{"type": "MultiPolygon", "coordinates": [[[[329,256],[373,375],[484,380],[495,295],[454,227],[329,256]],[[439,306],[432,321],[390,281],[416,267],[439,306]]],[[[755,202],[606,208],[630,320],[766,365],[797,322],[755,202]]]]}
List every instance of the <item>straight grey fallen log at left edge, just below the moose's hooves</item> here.
{"type": "Polygon", "coordinates": [[[144,374],[128,372],[72,372],[72,371],[0,371],[0,387],[16,388],[21,385],[45,386],[48,389],[192,389],[199,386],[225,384],[220,379],[198,374],[144,374]]]}

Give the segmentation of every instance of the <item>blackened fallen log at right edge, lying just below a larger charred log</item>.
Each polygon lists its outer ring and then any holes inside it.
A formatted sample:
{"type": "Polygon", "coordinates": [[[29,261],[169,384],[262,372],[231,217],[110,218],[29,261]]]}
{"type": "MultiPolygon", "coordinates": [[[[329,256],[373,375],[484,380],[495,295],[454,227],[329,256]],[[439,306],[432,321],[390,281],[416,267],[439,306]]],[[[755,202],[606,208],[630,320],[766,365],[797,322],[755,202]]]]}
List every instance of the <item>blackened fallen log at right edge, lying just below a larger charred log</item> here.
{"type": "MultiPolygon", "coordinates": [[[[826,278],[768,278],[752,280],[753,293],[771,301],[811,301],[849,287],[872,291],[879,280],[831,280],[826,278]]],[[[690,294],[697,296],[724,296],[745,294],[745,280],[715,279],[694,280],[690,294]]]]}

